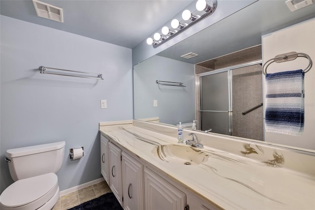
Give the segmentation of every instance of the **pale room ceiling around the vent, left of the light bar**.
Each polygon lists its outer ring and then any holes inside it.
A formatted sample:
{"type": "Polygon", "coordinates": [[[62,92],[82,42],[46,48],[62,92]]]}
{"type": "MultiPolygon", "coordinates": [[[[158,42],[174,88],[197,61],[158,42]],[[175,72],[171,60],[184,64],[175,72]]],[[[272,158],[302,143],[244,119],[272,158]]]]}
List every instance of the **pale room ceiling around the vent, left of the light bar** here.
{"type": "Polygon", "coordinates": [[[42,0],[62,7],[64,23],[38,17],[32,0],[0,0],[0,14],[133,48],[193,0],[42,0]]]}

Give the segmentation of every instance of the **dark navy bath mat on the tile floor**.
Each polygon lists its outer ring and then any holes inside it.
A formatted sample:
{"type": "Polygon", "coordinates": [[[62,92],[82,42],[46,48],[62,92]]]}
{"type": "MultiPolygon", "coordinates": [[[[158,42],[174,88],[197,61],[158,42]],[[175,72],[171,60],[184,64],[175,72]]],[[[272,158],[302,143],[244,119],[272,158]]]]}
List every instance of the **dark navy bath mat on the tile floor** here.
{"type": "Polygon", "coordinates": [[[69,210],[123,210],[123,208],[111,192],[69,210]]]}

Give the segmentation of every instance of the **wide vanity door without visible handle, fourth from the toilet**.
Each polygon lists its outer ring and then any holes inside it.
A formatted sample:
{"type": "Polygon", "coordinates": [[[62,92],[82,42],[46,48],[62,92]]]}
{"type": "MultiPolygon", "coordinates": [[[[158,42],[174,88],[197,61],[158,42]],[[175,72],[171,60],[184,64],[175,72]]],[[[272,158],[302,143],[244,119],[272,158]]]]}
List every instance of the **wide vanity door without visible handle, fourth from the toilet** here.
{"type": "Polygon", "coordinates": [[[145,168],[145,209],[146,210],[183,210],[186,207],[186,195],[145,168]]]}

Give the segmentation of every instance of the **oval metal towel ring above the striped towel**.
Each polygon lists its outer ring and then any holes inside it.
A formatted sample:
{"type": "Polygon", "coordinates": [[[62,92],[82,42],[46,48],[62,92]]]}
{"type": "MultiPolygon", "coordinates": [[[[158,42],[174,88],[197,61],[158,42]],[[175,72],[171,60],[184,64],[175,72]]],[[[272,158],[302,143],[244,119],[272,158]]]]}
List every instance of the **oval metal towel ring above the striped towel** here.
{"type": "Polygon", "coordinates": [[[303,57],[307,58],[309,60],[309,65],[303,70],[305,73],[308,72],[312,66],[313,66],[313,61],[310,58],[308,54],[305,53],[297,53],[297,52],[288,52],[280,55],[276,55],[276,57],[269,59],[262,67],[262,73],[264,75],[267,74],[267,68],[269,67],[270,64],[276,62],[276,63],[281,63],[285,61],[292,61],[295,60],[297,57],[303,57]],[[266,68],[265,68],[266,67],[266,68]]]}

